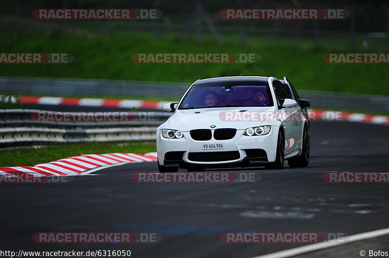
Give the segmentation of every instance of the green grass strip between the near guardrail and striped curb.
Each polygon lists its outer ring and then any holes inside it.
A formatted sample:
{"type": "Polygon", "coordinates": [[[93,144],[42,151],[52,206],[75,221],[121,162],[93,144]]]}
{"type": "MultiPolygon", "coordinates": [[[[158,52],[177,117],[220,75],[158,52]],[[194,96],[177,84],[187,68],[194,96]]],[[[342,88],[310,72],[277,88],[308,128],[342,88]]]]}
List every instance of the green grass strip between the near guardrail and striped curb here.
{"type": "Polygon", "coordinates": [[[34,166],[39,163],[56,161],[83,154],[104,154],[114,152],[144,154],[156,150],[157,147],[155,142],[90,142],[43,145],[39,148],[3,150],[0,155],[0,166],[34,166]]]}

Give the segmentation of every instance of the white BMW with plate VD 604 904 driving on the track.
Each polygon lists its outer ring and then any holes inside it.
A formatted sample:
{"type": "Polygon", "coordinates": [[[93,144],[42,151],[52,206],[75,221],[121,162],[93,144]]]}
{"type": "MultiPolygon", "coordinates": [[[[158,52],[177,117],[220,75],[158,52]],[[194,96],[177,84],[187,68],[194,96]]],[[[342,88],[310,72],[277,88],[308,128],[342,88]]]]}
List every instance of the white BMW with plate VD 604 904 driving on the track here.
{"type": "Polygon", "coordinates": [[[157,129],[159,172],[178,168],[265,166],[309,163],[309,124],[301,108],[309,101],[274,77],[233,76],[197,80],[172,116],[157,129]]]}

